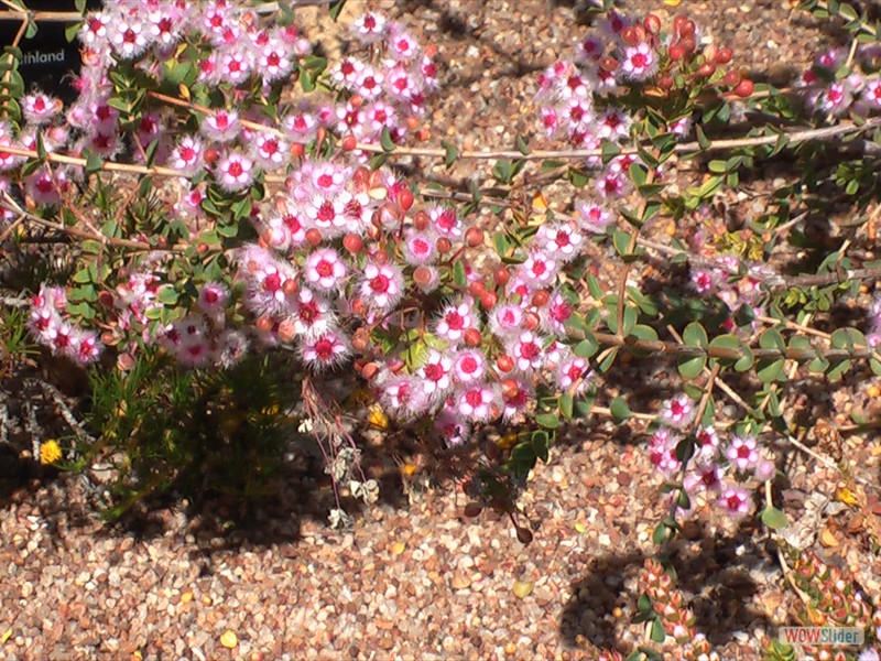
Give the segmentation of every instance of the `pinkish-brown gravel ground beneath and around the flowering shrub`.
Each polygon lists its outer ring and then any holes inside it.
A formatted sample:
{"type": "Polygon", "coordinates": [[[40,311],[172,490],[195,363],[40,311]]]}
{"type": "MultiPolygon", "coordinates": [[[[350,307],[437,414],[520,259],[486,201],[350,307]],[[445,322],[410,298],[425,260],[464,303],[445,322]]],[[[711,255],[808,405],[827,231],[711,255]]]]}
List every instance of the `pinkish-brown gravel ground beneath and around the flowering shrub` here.
{"type": "MultiPolygon", "coordinates": [[[[569,53],[581,30],[569,4],[399,3],[393,13],[437,43],[446,85],[461,89],[435,104],[433,123],[446,136],[432,141],[509,147],[518,133],[531,137],[535,73],[569,53]]],[[[626,7],[665,11],[654,1],[626,7]]],[[[686,7],[707,34],[742,54],[746,68],[770,72],[777,84],[828,39],[776,1],[686,7]]],[[[463,163],[434,174],[479,172],[463,163]]],[[[639,366],[630,369],[622,379],[649,381],[639,366]]],[[[859,399],[863,386],[859,376],[846,383],[833,412],[844,419],[848,407],[871,408],[859,399]]],[[[877,483],[878,440],[846,443],[857,474],[877,483]]],[[[788,511],[797,516],[806,495],[835,490],[837,474],[792,448],[781,453],[795,502],[788,511]]],[[[208,517],[180,501],[109,525],[95,514],[104,498],[96,475],[32,478],[0,509],[0,657],[589,659],[639,642],[641,628],[629,624],[634,577],[664,508],[638,435],[610,423],[569,434],[524,498],[530,545],[505,520],[460,518],[464,496],[425,481],[411,479],[409,498],[400,481],[388,484],[381,505],[338,532],[325,523],[328,487],[305,468],[244,525],[222,503],[208,517]]],[[[817,542],[825,557],[851,566],[878,594],[881,563],[864,539],[839,531],[834,540],[817,542]]],[[[793,606],[765,533],[699,517],[674,551],[716,651],[759,658],[793,606]]]]}

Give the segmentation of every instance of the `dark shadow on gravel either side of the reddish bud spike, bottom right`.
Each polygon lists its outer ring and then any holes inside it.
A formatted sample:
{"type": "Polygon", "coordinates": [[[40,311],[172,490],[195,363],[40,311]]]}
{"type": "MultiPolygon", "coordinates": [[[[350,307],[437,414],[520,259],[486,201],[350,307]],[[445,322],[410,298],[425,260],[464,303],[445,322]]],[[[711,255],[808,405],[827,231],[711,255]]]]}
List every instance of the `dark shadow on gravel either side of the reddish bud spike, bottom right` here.
{"type": "MultiPolygon", "coordinates": [[[[683,603],[694,610],[698,631],[714,646],[730,642],[736,631],[770,625],[761,611],[749,605],[759,590],[754,571],[773,566],[763,549],[746,531],[735,538],[707,535],[696,529],[690,541],[673,544],[672,562],[678,574],[683,603]],[[695,546],[699,550],[695,550],[695,546]]],[[[573,596],[559,620],[561,637],[569,648],[614,649],[629,653],[616,631],[629,620],[616,618],[616,607],[632,615],[640,596],[639,572],[646,556],[639,552],[598,555],[591,573],[573,585],[573,596]]]]}

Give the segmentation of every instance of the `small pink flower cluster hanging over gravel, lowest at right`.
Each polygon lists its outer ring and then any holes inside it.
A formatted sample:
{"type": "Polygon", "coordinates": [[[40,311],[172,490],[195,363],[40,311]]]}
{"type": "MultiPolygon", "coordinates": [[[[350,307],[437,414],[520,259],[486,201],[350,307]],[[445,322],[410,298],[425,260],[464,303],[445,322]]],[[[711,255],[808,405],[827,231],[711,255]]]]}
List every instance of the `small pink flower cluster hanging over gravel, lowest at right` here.
{"type": "MultiPolygon", "coordinates": [[[[758,441],[746,434],[731,435],[722,443],[711,426],[698,426],[693,437],[683,433],[695,418],[694,402],[685,394],[662,407],[659,427],[649,441],[649,458],[665,480],[675,480],[683,468],[686,447],[694,445],[694,456],[686,466],[683,488],[694,510],[695,498],[713,502],[731,517],[742,517],[752,508],[748,487],[751,479],[766,481],[774,477],[774,464],[763,456],[758,441]]],[[[683,508],[679,508],[683,510],[683,508]]]]}

